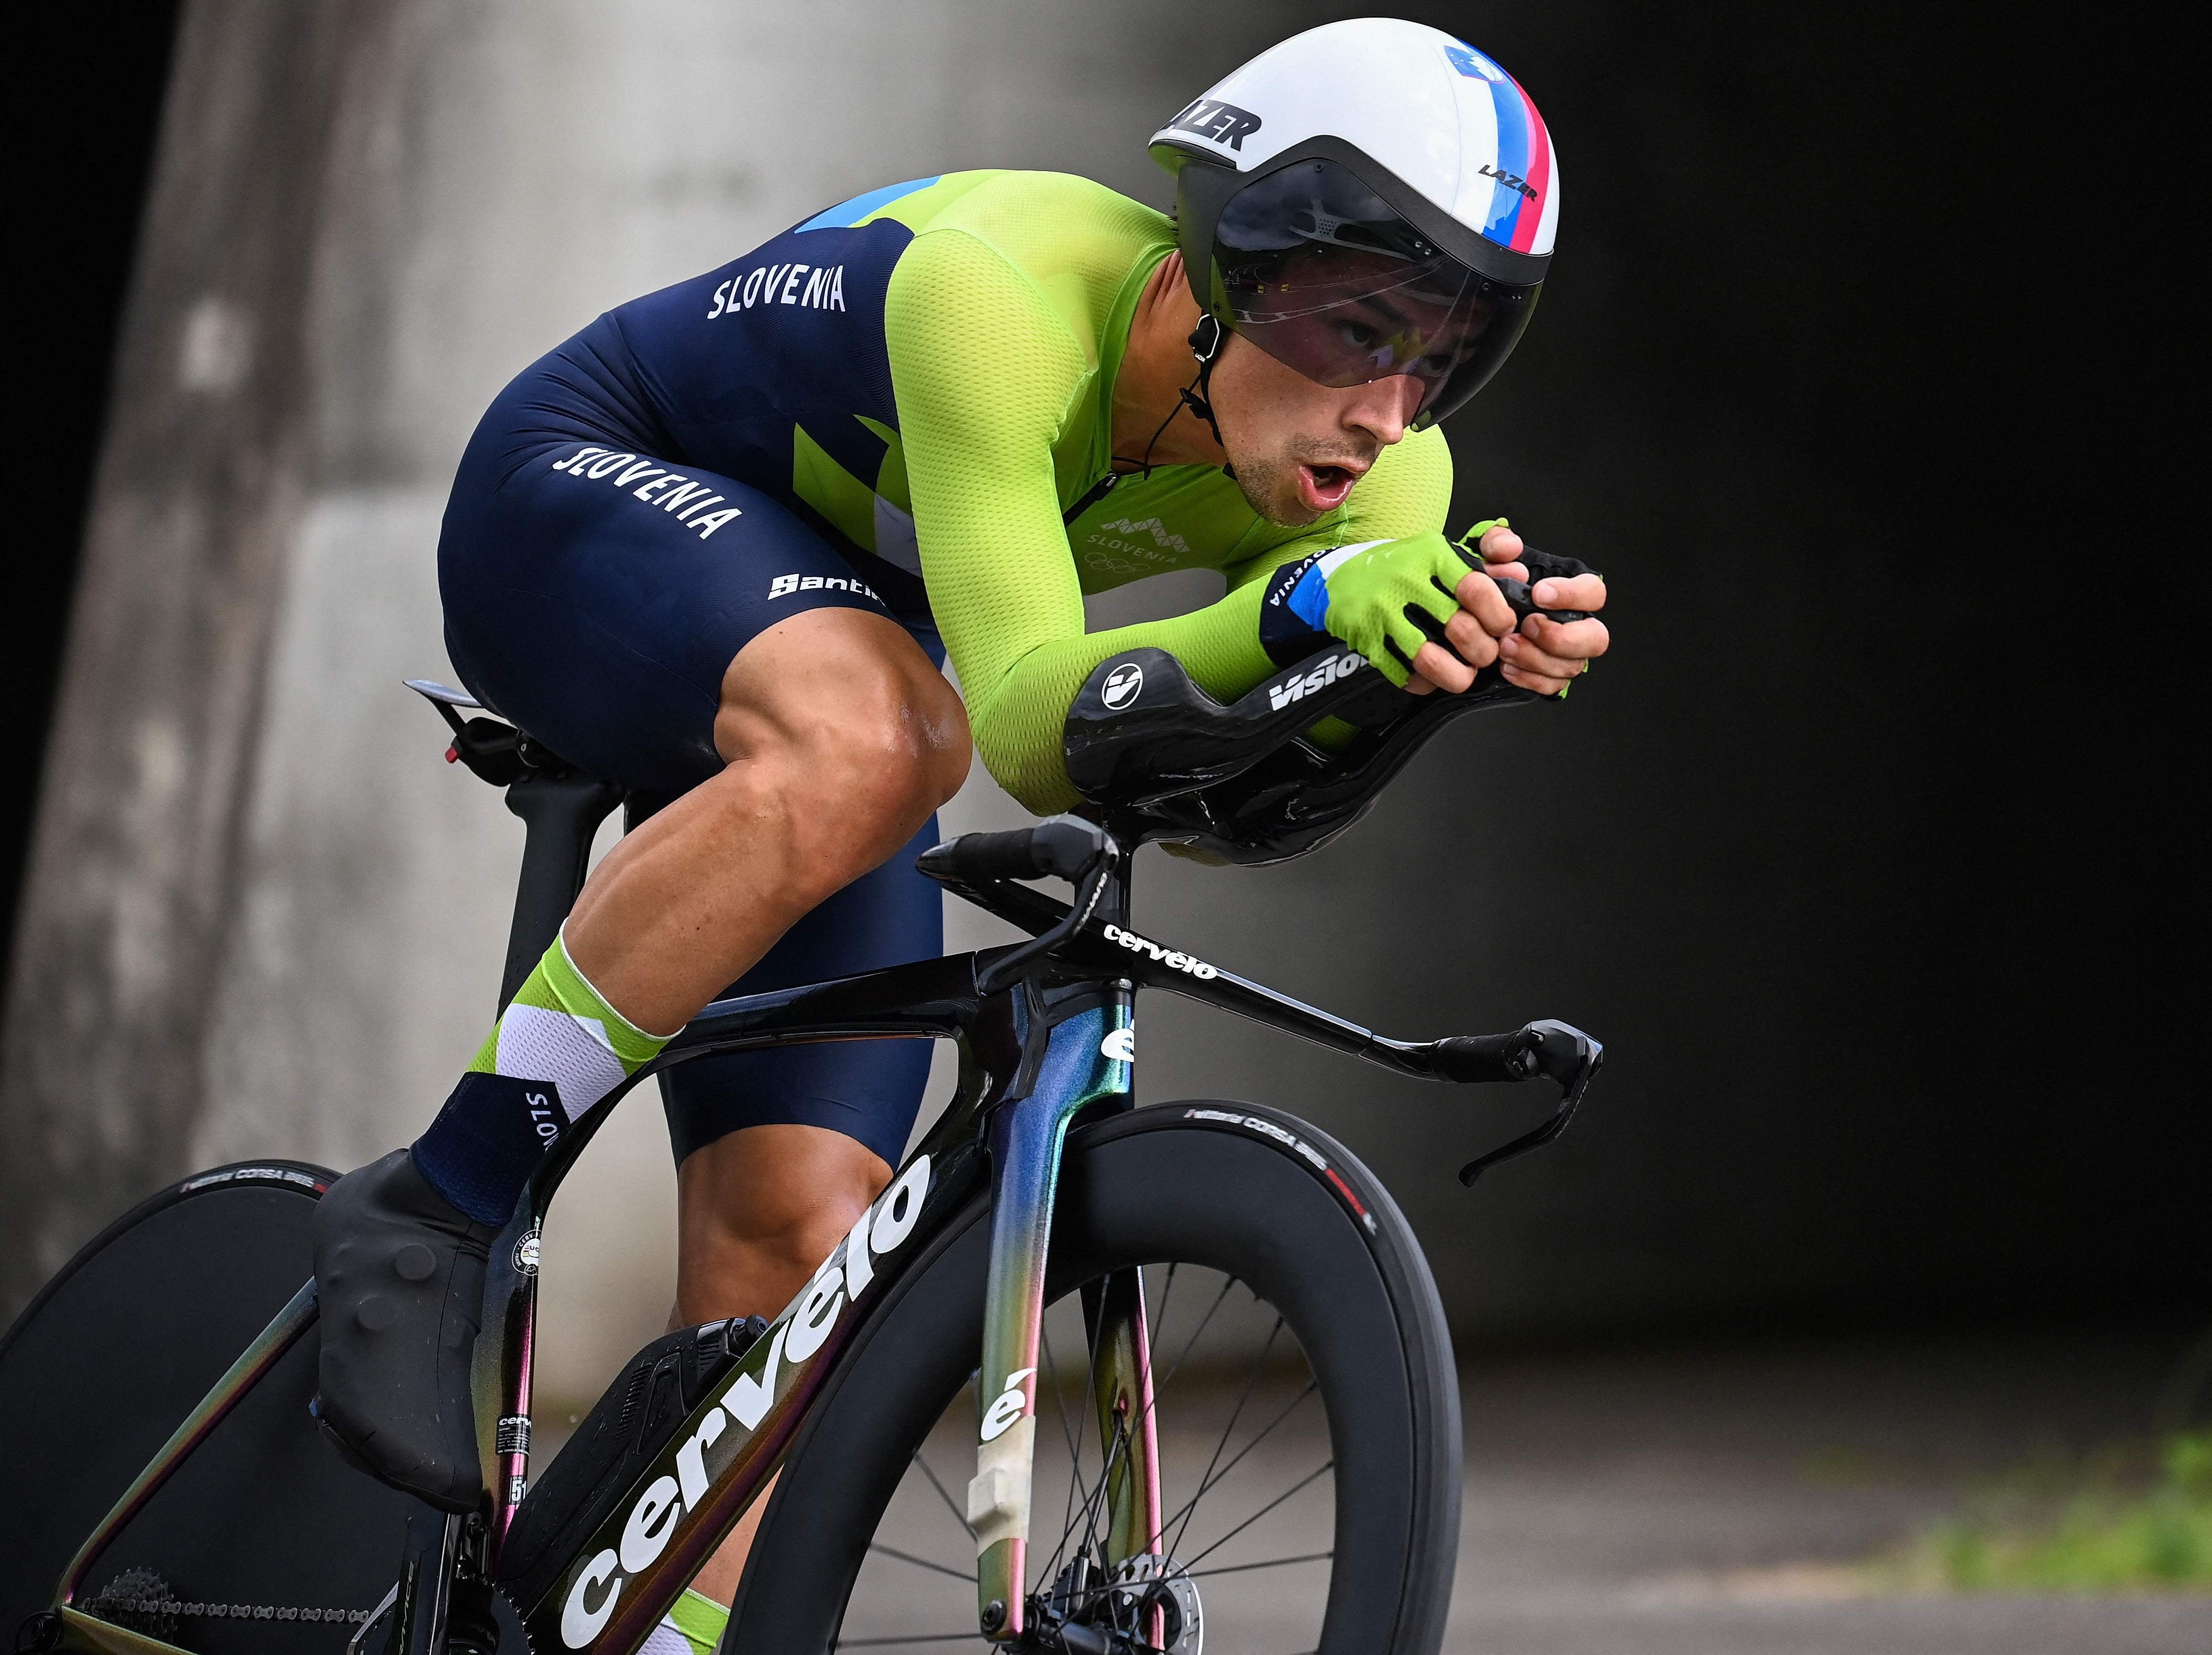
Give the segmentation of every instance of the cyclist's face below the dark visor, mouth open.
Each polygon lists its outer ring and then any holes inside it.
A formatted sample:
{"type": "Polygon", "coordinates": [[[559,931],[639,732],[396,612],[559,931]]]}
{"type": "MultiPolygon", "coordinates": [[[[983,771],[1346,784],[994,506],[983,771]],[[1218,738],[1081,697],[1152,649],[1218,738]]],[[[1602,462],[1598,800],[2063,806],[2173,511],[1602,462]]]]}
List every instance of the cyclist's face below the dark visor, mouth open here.
{"type": "Polygon", "coordinates": [[[1316,385],[1230,334],[1210,392],[1245,500],[1270,522],[1303,524],[1336,511],[1376,456],[1405,436],[1427,385],[1413,374],[1316,385]]]}

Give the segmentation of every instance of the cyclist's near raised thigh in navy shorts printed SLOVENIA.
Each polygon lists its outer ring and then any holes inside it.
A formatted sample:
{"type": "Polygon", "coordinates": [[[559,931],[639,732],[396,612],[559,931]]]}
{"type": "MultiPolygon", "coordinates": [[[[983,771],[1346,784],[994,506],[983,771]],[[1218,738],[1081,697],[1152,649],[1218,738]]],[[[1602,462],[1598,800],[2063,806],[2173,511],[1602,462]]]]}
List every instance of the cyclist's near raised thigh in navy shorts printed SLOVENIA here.
{"type": "Polygon", "coordinates": [[[695,788],[721,770],[714,710],[745,644],[807,608],[889,615],[759,489],[582,438],[507,440],[498,416],[438,542],[447,653],[487,706],[591,774],[695,788]]]}

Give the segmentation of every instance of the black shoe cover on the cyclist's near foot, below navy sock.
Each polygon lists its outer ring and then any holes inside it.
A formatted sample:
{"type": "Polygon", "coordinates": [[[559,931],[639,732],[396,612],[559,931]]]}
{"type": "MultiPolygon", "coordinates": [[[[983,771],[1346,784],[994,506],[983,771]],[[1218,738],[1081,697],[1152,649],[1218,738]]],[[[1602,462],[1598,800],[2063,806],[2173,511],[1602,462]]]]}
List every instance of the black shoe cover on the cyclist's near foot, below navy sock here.
{"type": "Polygon", "coordinates": [[[469,1359],[493,1235],[403,1148],[341,1177],[314,1215],[316,1414],[349,1460],[440,1511],[484,1493],[469,1359]]]}

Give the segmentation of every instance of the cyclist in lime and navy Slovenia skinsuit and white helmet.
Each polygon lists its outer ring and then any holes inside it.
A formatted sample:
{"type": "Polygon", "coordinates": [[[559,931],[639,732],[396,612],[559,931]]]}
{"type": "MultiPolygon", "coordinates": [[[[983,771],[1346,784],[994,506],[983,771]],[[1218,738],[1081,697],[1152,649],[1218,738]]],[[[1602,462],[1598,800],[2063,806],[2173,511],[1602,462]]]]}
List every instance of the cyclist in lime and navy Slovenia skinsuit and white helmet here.
{"type": "MultiPolygon", "coordinates": [[[[1133,644],[1221,699],[1327,637],[1444,693],[1491,664],[1564,693],[1604,653],[1599,620],[1515,631],[1480,573],[1528,577],[1504,522],[1473,553],[1442,533],[1436,420],[1513,350],[1557,226],[1526,93],[1436,29],[1336,22],[1152,155],[1172,221],[1051,173],[860,195],[599,316],[476,429],[438,549],[453,666],[666,803],[429,1131],[321,1204],[319,1412],[389,1482],[476,1507],[484,1250],[584,1111],[732,985],[942,951],[911,861],[971,743],[1042,814],[1077,803],[1075,690],[1133,644]],[[1084,633],[1086,591],[1179,566],[1228,595],[1084,633]]],[[[1553,575],[1535,600],[1595,611],[1604,586],[1553,575]]],[[[677,1325],[805,1286],[887,1184],[927,1060],[843,1042],[664,1078],[677,1325]]],[[[699,1584],[726,1597],[734,1566],[699,1584]]]]}

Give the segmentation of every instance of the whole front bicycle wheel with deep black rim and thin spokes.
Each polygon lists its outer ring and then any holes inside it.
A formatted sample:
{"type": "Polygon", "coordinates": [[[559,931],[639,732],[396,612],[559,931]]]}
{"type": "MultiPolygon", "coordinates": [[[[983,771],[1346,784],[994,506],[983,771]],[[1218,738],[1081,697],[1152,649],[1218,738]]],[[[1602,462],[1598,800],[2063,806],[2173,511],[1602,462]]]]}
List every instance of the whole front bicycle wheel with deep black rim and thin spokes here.
{"type": "MultiPolygon", "coordinates": [[[[723,1651],[947,1648],[975,1631],[989,1204],[856,1332],[792,1447],[723,1651]]],[[[1046,1274],[1026,1589],[1097,1602],[1104,1463],[1079,1290],[1141,1268],[1172,1655],[1431,1655],[1460,1527],[1460,1409],[1427,1261],[1340,1146],[1248,1104],[1068,1139],[1046,1274]],[[1051,1398],[1051,1401],[1046,1401],[1051,1398]]],[[[1128,1595],[1128,1593],[1124,1593],[1128,1595]]],[[[1164,1628],[1164,1631],[1161,1631],[1164,1628]]],[[[1150,1644],[1150,1640],[1146,1640],[1150,1644]]]]}

